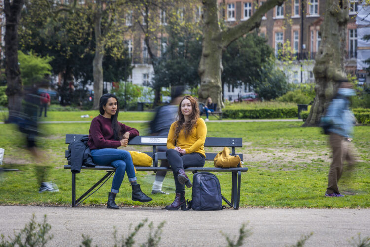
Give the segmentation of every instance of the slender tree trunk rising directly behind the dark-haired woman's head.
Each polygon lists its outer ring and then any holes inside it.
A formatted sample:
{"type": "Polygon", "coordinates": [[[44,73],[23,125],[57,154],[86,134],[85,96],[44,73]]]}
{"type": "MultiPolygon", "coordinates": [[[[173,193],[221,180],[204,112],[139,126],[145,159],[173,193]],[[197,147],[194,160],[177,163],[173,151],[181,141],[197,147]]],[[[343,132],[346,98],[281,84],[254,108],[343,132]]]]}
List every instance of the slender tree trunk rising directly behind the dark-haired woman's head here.
{"type": "Polygon", "coordinates": [[[104,43],[101,32],[102,9],[97,1],[97,12],[94,15],[95,29],[95,56],[93,60],[93,78],[94,78],[94,104],[93,109],[99,109],[99,100],[103,95],[103,56],[104,43]]]}

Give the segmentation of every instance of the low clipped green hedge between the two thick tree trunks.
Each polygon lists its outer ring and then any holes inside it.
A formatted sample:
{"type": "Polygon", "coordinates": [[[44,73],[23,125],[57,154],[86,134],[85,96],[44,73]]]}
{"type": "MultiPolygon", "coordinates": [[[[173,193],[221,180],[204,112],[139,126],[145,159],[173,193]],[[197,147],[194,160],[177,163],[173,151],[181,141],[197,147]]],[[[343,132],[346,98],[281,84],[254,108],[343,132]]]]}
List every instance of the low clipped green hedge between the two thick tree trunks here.
{"type": "Polygon", "coordinates": [[[222,112],[223,118],[230,119],[276,119],[276,118],[296,118],[297,116],[298,116],[297,107],[226,109],[222,112]]]}

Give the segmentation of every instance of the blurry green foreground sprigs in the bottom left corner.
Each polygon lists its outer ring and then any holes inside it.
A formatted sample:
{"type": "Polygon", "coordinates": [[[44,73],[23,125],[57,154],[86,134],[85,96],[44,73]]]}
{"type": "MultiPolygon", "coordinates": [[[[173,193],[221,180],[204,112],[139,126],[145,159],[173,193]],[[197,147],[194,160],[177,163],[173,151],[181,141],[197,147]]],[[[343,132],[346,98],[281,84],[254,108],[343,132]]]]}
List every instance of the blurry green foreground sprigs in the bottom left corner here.
{"type": "Polygon", "coordinates": [[[0,247],[45,247],[46,243],[53,238],[53,235],[49,235],[50,229],[51,226],[46,223],[46,215],[42,224],[36,224],[33,214],[31,221],[14,238],[9,236],[10,240],[5,240],[4,235],[1,234],[0,247]]]}

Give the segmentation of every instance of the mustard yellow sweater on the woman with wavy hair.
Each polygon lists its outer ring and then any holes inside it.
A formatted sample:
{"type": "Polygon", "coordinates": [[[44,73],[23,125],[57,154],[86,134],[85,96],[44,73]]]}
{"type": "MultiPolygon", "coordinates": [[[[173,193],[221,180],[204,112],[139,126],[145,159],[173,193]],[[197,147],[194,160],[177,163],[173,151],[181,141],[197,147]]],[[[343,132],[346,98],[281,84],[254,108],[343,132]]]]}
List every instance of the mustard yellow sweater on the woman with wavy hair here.
{"type": "Polygon", "coordinates": [[[202,118],[198,118],[196,125],[193,127],[191,134],[185,138],[184,131],[181,130],[175,146],[175,128],[176,122],[171,124],[170,131],[167,137],[167,148],[175,148],[176,146],[186,150],[186,154],[200,153],[206,157],[204,151],[204,142],[207,136],[207,126],[202,118]]]}

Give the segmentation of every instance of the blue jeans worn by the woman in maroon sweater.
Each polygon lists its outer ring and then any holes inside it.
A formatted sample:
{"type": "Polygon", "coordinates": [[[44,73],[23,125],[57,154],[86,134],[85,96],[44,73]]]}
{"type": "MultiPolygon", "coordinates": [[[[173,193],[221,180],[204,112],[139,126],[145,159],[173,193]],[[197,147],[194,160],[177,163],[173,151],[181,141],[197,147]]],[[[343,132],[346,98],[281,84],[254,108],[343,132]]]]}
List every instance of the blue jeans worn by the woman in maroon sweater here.
{"type": "Polygon", "coordinates": [[[96,165],[112,165],[115,167],[111,192],[119,192],[125,171],[130,182],[137,180],[134,164],[128,151],[114,148],[93,149],[91,150],[91,156],[96,165]]]}

